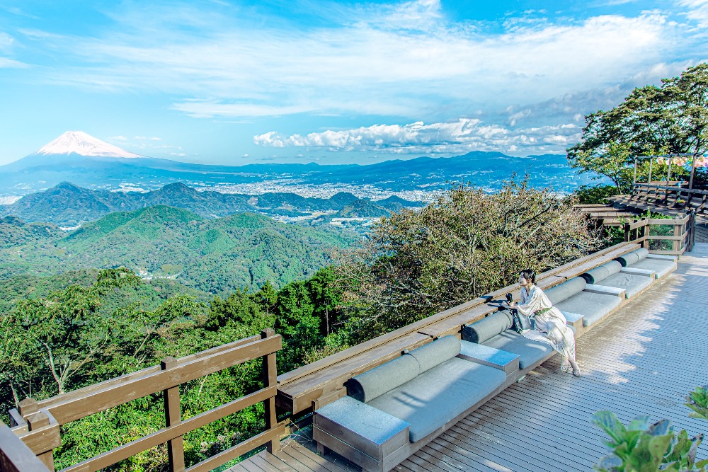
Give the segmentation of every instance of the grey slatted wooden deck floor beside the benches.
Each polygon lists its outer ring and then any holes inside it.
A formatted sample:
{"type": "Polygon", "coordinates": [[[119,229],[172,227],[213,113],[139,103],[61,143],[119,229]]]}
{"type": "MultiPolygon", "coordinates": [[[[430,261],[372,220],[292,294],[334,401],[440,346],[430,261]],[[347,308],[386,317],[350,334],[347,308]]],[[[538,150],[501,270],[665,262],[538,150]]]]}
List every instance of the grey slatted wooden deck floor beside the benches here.
{"type": "MultiPolygon", "coordinates": [[[[590,471],[607,454],[590,415],[612,410],[669,418],[689,434],[708,422],[689,418],[684,396],[708,384],[708,243],[682,257],[678,270],[578,340],[583,378],[559,374],[554,358],[510,386],[395,470],[590,471]]],[[[233,472],[360,470],[336,454],[314,452],[307,430],[233,472]]],[[[708,441],[698,451],[708,457],[708,441]]]]}

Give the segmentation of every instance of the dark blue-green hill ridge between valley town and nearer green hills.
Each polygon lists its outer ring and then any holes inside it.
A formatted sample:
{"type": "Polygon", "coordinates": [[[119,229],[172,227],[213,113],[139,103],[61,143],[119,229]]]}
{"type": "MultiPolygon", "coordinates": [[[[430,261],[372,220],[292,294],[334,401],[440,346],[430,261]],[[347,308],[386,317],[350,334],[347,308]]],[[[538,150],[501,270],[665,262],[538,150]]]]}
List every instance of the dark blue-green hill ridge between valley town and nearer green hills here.
{"type": "MultiPolygon", "coordinates": [[[[90,190],[63,182],[49,190],[30,193],[11,205],[0,205],[0,216],[20,217],[25,221],[47,221],[60,226],[78,226],[112,212],[133,211],[155,205],[169,205],[203,218],[224,217],[236,212],[256,212],[271,217],[384,217],[404,207],[420,207],[392,196],[385,200],[360,199],[348,192],[329,198],[302,197],[295,193],[268,192],[263,195],[198,192],[183,183],[171,183],[150,192],[110,192],[90,190]]],[[[320,221],[322,222],[322,221],[320,221]]]]}

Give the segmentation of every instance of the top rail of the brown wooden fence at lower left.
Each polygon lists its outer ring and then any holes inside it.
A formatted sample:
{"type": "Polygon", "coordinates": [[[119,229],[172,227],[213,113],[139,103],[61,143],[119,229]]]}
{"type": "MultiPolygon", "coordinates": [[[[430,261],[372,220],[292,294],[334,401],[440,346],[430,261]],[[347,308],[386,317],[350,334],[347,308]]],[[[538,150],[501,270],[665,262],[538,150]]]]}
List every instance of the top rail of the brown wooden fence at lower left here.
{"type": "Polygon", "coordinates": [[[227,367],[257,359],[280,350],[280,347],[280,335],[263,340],[259,338],[251,343],[233,347],[230,350],[193,359],[190,362],[181,364],[178,369],[154,372],[138,379],[131,379],[123,384],[113,385],[100,391],[93,391],[83,397],[69,398],[61,403],[51,405],[47,410],[57,418],[59,425],[65,425],[67,422],[93,415],[136,398],[142,398],[157,391],[166,390],[190,380],[219,372],[227,367]]]}

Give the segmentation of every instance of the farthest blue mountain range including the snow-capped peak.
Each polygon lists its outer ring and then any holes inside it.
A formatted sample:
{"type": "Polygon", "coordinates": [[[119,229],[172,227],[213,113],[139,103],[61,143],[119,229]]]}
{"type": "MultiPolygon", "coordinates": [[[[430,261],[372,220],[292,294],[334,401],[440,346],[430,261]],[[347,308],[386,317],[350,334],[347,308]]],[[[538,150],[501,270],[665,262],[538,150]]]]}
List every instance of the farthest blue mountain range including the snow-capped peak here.
{"type": "Polygon", "coordinates": [[[532,185],[572,191],[589,182],[577,175],[563,155],[512,157],[474,151],[450,158],[419,157],[370,165],[271,163],[208,166],[139,156],[83,132],[67,132],[37,152],[0,166],[0,195],[27,195],[67,181],[82,187],[116,190],[134,185],[156,190],[168,183],[219,187],[275,182],[282,185],[366,185],[386,192],[435,190],[448,181],[467,182],[490,190],[512,173],[528,173],[532,185]]]}

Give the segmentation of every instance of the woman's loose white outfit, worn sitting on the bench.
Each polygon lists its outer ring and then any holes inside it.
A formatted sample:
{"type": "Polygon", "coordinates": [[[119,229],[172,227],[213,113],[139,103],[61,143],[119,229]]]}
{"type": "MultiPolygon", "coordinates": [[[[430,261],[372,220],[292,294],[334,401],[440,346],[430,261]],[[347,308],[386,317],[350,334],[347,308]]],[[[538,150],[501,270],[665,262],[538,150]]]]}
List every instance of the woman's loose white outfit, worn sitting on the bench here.
{"type": "Polygon", "coordinates": [[[522,333],[525,338],[550,344],[564,357],[575,360],[573,330],[566,324],[563,313],[553,306],[542,289],[533,285],[527,293],[526,287],[522,287],[521,301],[515,304],[514,308],[525,316],[536,313],[536,329],[525,330],[522,333]],[[539,313],[539,310],[542,312],[539,313]]]}

